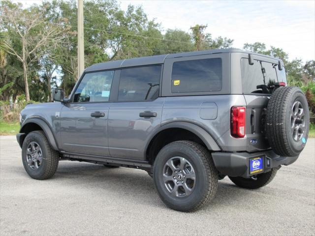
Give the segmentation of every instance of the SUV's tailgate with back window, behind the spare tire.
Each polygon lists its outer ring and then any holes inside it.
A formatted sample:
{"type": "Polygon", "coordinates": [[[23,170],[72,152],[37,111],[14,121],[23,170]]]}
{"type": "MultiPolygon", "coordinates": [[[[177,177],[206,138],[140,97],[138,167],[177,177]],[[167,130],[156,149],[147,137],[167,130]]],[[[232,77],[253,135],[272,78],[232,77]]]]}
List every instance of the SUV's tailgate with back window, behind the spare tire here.
{"type": "Polygon", "coordinates": [[[265,139],[265,117],[271,90],[264,88],[275,82],[286,82],[284,68],[278,69],[278,61],[252,56],[241,59],[241,76],[244,97],[247,103],[246,136],[248,151],[269,148],[265,139]],[[258,86],[258,88],[257,88],[258,86]]]}

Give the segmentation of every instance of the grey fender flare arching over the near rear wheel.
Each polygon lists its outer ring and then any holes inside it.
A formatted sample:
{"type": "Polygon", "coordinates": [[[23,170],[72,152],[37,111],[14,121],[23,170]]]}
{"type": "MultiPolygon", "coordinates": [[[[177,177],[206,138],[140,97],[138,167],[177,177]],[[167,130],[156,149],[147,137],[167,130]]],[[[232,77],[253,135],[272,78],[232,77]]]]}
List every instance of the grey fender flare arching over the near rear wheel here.
{"type": "Polygon", "coordinates": [[[144,149],[145,153],[149,147],[149,144],[155,138],[155,136],[159,132],[161,132],[162,130],[169,129],[169,128],[186,129],[186,130],[190,131],[191,133],[194,133],[196,136],[198,136],[209,150],[221,151],[221,148],[219,147],[217,142],[214,140],[214,138],[206,130],[204,130],[202,127],[200,127],[194,123],[187,122],[187,121],[172,121],[172,122],[169,122],[169,123],[166,123],[166,124],[160,126],[156,130],[156,132],[154,132],[154,134],[150,137],[149,142],[147,142],[147,144],[146,144],[146,147],[144,149]]]}

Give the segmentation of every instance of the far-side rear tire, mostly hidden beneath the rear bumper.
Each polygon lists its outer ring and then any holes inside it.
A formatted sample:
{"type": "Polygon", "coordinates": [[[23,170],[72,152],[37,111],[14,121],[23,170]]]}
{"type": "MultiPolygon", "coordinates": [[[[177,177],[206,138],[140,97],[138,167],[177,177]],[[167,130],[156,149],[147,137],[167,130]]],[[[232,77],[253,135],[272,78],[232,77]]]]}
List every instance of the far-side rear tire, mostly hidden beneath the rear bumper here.
{"type": "Polygon", "coordinates": [[[235,183],[237,186],[241,188],[248,188],[248,189],[256,189],[261,188],[268,183],[276,176],[278,169],[273,168],[271,171],[262,173],[257,175],[257,180],[253,180],[252,178],[243,178],[243,177],[231,177],[231,181],[235,183]]]}

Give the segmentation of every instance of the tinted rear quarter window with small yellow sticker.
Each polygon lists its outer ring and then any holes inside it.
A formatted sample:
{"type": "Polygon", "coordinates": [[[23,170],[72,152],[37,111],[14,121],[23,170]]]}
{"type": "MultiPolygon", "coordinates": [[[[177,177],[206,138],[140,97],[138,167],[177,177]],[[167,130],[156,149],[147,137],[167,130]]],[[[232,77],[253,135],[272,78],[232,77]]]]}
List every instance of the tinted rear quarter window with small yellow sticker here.
{"type": "Polygon", "coordinates": [[[222,88],[222,60],[199,59],[173,63],[171,91],[206,92],[222,88]]]}

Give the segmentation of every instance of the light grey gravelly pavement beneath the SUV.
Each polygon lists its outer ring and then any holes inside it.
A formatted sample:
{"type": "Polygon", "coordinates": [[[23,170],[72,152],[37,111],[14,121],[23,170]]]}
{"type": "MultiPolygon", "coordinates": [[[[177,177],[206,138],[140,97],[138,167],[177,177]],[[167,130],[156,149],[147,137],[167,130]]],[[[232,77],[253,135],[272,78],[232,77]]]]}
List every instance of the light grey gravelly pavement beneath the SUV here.
{"type": "Polygon", "coordinates": [[[53,178],[32,179],[15,137],[2,136],[0,235],[315,235],[315,140],[269,185],[225,177],[209,206],[182,213],[140,170],[62,161],[53,178]]]}

